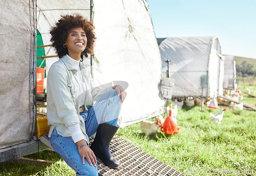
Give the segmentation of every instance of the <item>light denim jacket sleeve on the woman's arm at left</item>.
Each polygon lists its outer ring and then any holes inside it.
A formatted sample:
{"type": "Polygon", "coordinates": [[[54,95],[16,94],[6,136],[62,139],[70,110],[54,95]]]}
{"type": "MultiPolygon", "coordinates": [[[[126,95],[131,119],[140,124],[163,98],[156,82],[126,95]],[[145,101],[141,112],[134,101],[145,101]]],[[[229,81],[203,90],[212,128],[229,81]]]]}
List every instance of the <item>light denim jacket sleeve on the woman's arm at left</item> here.
{"type": "Polygon", "coordinates": [[[56,108],[57,118],[66,127],[79,123],[79,117],[67,82],[67,71],[53,65],[48,72],[47,79],[47,94],[51,96],[52,107],[56,108]]]}

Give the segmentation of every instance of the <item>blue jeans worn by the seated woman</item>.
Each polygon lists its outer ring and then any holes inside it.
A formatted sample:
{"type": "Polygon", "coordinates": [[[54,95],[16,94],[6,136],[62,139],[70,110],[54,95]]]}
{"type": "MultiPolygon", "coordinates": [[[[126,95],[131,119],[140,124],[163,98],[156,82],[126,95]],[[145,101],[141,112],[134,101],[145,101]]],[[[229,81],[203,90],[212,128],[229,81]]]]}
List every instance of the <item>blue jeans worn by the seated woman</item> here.
{"type": "MultiPolygon", "coordinates": [[[[118,116],[121,111],[121,104],[118,104],[119,101],[120,97],[117,96],[116,91],[110,90],[103,94],[88,111],[80,113],[86,124],[86,133],[89,138],[96,133],[100,123],[117,126],[118,116]]],[[[76,171],[76,175],[98,175],[97,166],[90,166],[86,159],[84,159],[85,164],[82,164],[77,145],[72,137],[62,137],[54,128],[50,143],[63,160],[76,171]]]]}

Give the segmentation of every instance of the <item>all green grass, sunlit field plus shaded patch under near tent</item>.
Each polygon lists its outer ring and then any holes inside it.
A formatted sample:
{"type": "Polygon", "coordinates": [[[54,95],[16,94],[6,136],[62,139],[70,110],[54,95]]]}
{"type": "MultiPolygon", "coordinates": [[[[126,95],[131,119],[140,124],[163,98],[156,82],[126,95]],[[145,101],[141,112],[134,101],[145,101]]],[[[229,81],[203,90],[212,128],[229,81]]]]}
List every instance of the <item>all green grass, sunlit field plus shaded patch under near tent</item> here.
{"type": "MultiPolygon", "coordinates": [[[[251,89],[256,92],[256,86],[251,89]]],[[[254,105],[256,98],[244,94],[242,102],[254,105]]],[[[221,124],[217,125],[209,120],[209,113],[217,114],[220,109],[204,106],[201,112],[199,106],[188,111],[179,108],[177,122],[181,130],[175,135],[159,130],[157,136],[147,139],[139,123],[120,128],[117,135],[185,175],[256,175],[256,112],[234,112],[227,108],[221,124]],[[243,174],[249,170],[254,174],[243,174]]],[[[63,162],[57,153],[46,151],[26,157],[63,162]]],[[[75,171],[61,163],[43,167],[0,163],[0,176],[6,175],[75,176],[75,171]]]]}

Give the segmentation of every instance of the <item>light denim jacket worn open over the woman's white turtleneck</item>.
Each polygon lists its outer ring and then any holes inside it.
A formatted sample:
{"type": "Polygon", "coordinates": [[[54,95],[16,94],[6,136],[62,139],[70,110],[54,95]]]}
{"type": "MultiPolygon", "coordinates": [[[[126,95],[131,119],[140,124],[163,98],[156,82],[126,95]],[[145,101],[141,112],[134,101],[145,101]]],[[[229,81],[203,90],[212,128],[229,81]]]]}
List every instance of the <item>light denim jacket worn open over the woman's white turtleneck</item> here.
{"type": "MultiPolygon", "coordinates": [[[[86,64],[80,62],[80,69],[86,82],[86,99],[84,105],[87,108],[92,106],[92,101],[97,101],[111,87],[97,86],[92,79],[86,64]]],[[[70,137],[68,127],[79,124],[84,139],[89,144],[86,134],[86,126],[83,118],[79,115],[80,106],[80,85],[74,75],[77,70],[67,56],[52,64],[47,76],[47,119],[50,126],[49,138],[54,127],[59,135],[70,137]]]]}

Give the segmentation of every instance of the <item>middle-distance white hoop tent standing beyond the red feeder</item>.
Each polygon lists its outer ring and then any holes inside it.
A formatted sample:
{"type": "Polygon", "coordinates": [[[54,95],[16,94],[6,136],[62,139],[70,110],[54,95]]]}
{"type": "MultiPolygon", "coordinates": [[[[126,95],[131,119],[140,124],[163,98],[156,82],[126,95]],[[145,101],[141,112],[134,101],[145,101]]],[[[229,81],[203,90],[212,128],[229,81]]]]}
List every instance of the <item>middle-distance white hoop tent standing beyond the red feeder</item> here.
{"type": "Polygon", "coordinates": [[[223,94],[224,56],[217,37],[158,38],[162,75],[175,79],[174,96],[223,94]]]}

